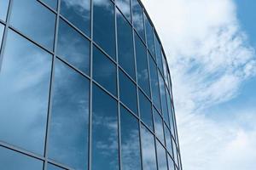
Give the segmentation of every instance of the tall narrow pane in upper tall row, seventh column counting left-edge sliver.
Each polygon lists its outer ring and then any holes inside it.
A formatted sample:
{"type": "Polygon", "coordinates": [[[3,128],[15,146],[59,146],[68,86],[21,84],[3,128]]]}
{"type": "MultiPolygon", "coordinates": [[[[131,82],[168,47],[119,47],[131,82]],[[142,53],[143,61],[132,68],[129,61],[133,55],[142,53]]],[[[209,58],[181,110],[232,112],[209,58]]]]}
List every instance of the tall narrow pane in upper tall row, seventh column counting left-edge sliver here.
{"type": "Polygon", "coordinates": [[[159,82],[158,82],[157,67],[156,67],[152,57],[148,56],[148,59],[149,59],[152,98],[153,98],[154,105],[160,111],[160,108],[161,108],[160,107],[160,89],[159,89],[159,82]]]}

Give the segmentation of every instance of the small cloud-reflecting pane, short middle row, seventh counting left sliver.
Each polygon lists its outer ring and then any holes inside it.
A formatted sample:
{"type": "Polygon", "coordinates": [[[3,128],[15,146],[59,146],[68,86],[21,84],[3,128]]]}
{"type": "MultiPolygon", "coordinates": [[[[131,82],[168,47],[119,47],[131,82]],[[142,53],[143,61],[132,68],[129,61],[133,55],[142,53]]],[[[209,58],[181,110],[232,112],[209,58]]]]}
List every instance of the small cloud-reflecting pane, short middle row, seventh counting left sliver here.
{"type": "Polygon", "coordinates": [[[163,129],[163,120],[159,113],[153,109],[154,113],[154,133],[160,139],[162,144],[165,144],[165,137],[164,137],[164,129],[163,129]]]}

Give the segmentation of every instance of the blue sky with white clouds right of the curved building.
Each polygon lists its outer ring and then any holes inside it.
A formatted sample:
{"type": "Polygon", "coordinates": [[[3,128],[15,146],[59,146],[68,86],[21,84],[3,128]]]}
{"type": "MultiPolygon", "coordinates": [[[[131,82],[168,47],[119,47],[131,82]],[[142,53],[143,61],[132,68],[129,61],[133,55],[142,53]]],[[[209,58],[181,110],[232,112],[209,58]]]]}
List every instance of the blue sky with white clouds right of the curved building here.
{"type": "Polygon", "coordinates": [[[165,48],[184,170],[256,169],[256,1],[143,0],[165,48]]]}

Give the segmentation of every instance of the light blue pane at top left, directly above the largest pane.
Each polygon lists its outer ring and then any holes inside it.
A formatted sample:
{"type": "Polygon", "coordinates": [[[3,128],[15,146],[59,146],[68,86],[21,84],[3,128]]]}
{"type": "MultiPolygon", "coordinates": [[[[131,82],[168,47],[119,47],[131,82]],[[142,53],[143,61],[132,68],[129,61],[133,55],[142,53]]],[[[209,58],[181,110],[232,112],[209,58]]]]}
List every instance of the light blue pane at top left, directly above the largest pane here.
{"type": "Polygon", "coordinates": [[[10,24],[52,50],[55,37],[55,14],[41,3],[14,0],[10,24]]]}

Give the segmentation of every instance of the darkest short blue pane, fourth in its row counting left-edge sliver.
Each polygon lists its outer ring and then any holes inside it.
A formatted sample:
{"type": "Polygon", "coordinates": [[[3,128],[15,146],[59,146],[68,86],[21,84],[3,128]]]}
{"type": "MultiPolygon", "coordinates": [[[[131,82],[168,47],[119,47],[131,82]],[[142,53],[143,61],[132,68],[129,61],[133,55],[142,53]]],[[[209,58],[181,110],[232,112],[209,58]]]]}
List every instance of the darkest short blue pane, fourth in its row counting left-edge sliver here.
{"type": "Polygon", "coordinates": [[[116,65],[98,48],[93,48],[93,78],[116,95],[116,65]]]}

